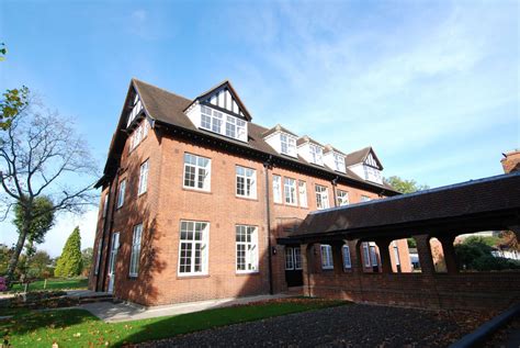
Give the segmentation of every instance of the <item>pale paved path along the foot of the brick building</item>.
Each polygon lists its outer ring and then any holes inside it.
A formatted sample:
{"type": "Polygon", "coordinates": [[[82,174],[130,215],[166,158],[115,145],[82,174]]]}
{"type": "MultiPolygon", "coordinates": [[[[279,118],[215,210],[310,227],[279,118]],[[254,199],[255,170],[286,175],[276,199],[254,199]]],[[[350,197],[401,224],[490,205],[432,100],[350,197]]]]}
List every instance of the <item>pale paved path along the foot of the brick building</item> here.
{"type": "Polygon", "coordinates": [[[89,311],[93,315],[105,322],[127,322],[135,319],[145,319],[158,316],[178,315],[184,313],[200,312],[210,308],[225,307],[237,304],[246,304],[264,300],[287,298],[289,295],[259,295],[239,299],[221,299],[211,301],[189,302],[173,305],[161,305],[154,307],[143,307],[127,303],[98,302],[82,304],[80,307],[89,311]]]}

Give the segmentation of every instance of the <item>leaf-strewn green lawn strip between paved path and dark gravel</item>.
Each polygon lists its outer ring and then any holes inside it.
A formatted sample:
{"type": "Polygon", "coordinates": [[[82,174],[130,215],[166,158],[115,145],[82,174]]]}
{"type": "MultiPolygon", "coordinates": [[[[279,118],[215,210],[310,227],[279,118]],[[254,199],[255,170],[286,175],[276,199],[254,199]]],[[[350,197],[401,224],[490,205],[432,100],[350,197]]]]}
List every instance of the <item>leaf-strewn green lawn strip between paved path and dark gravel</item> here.
{"type": "Polygon", "coordinates": [[[338,306],[344,301],[287,299],[207,310],[177,316],[104,323],[83,310],[25,312],[0,321],[0,333],[13,347],[117,347],[172,337],[212,327],[258,321],[290,313],[338,306]]]}

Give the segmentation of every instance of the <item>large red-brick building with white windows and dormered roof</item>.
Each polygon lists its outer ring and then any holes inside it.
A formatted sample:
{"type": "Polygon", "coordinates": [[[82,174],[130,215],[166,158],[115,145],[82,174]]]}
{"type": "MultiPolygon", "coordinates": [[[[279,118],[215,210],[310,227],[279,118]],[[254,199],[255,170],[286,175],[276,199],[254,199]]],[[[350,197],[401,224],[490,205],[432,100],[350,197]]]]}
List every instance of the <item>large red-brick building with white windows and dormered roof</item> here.
{"type": "MultiPolygon", "coordinates": [[[[228,81],[195,99],[131,81],[98,182],[90,289],[145,305],[283,292],[303,280],[299,245],[282,242],[310,211],[397,194],[371,147],[344,154],[251,119],[228,81]]],[[[409,271],[406,239],[391,248],[409,271]]],[[[377,246],[363,250],[380,271],[377,246]]],[[[315,252],[332,271],[330,246],[315,252]]]]}

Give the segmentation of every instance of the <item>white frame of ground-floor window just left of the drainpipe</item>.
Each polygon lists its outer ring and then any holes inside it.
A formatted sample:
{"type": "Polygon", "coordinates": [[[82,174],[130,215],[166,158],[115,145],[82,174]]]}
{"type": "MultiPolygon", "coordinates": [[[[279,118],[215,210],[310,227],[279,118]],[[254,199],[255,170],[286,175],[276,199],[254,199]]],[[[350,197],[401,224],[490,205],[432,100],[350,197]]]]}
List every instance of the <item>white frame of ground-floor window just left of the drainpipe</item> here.
{"type": "Polygon", "coordinates": [[[258,227],[249,225],[236,225],[235,226],[235,271],[237,273],[257,273],[258,269],[258,227]],[[246,240],[238,240],[244,235],[246,240]],[[244,234],[245,233],[245,234],[244,234]],[[249,242],[247,240],[250,235],[249,242]],[[245,269],[238,269],[238,252],[239,246],[244,247],[244,267],[245,269]],[[249,269],[248,269],[249,268],[249,269]]]}

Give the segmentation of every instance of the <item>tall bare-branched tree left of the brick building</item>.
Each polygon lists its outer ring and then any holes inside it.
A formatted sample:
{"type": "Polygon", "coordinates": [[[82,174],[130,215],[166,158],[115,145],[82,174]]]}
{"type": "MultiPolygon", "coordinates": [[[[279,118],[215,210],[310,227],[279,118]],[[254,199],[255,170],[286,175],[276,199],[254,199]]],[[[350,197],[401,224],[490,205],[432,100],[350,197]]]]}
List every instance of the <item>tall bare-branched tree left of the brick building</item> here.
{"type": "Polygon", "coordinates": [[[32,221],[48,213],[35,209],[35,199],[49,198],[54,214],[80,213],[94,202],[95,176],[95,161],[72,122],[27,99],[26,106],[11,119],[10,127],[0,131],[0,220],[9,216],[14,204],[23,214],[8,265],[8,282],[12,281],[32,221]]]}

